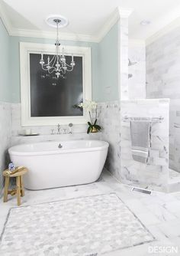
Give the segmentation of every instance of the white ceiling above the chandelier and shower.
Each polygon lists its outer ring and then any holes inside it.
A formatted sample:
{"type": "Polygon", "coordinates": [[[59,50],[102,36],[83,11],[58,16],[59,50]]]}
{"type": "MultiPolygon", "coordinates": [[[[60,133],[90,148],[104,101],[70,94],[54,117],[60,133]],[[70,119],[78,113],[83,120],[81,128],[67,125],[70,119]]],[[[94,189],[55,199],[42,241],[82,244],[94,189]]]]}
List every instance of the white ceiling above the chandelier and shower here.
{"type": "Polygon", "coordinates": [[[62,33],[100,34],[115,8],[132,8],[129,18],[129,35],[146,40],[159,29],[180,17],[180,0],[0,0],[3,11],[15,29],[53,31],[45,19],[59,14],[69,19],[62,33]],[[151,21],[142,26],[140,21],[151,21]]]}

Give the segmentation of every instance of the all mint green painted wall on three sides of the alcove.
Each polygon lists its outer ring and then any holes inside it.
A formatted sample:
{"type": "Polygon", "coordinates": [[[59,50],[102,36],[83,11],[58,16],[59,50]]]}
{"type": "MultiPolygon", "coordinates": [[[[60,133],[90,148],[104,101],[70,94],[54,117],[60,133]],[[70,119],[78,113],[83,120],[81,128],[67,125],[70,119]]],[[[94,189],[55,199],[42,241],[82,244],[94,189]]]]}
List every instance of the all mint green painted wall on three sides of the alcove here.
{"type": "MultiPolygon", "coordinates": [[[[53,44],[43,38],[9,37],[0,19],[0,101],[19,103],[19,42],[53,44]],[[11,71],[11,72],[10,72],[11,71]],[[9,75],[10,74],[10,75],[9,75]]],[[[117,24],[98,43],[62,41],[62,44],[92,48],[92,99],[97,102],[118,100],[118,27],[117,24]]]]}

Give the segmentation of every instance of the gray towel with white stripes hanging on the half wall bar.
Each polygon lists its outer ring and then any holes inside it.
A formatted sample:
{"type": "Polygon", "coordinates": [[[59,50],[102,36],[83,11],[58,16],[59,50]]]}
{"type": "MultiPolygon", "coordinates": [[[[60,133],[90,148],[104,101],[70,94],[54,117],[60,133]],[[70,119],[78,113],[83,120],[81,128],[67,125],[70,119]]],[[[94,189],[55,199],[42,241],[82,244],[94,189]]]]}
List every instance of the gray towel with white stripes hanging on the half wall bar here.
{"type": "Polygon", "coordinates": [[[145,120],[130,122],[131,150],[133,159],[147,163],[150,149],[150,123],[145,120]]]}

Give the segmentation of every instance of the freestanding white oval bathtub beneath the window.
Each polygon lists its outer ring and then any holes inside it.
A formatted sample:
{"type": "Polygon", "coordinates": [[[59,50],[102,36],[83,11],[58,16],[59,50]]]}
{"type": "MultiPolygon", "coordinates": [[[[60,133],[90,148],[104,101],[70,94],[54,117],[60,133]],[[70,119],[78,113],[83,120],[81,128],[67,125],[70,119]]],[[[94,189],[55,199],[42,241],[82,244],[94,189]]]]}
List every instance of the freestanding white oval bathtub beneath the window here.
{"type": "Polygon", "coordinates": [[[29,169],[24,187],[37,190],[95,182],[108,146],[101,140],[72,140],[12,146],[8,153],[15,166],[29,169]]]}

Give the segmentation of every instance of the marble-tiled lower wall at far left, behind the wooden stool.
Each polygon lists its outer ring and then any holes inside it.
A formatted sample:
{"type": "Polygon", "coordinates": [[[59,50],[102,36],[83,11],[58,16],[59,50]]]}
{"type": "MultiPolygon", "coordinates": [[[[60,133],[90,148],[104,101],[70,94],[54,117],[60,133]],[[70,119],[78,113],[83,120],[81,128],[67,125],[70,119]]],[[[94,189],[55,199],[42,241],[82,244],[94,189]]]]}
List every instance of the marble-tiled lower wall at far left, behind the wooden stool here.
{"type": "Polygon", "coordinates": [[[3,189],[2,171],[8,163],[7,150],[11,137],[11,104],[0,102],[0,197],[3,189]]]}

